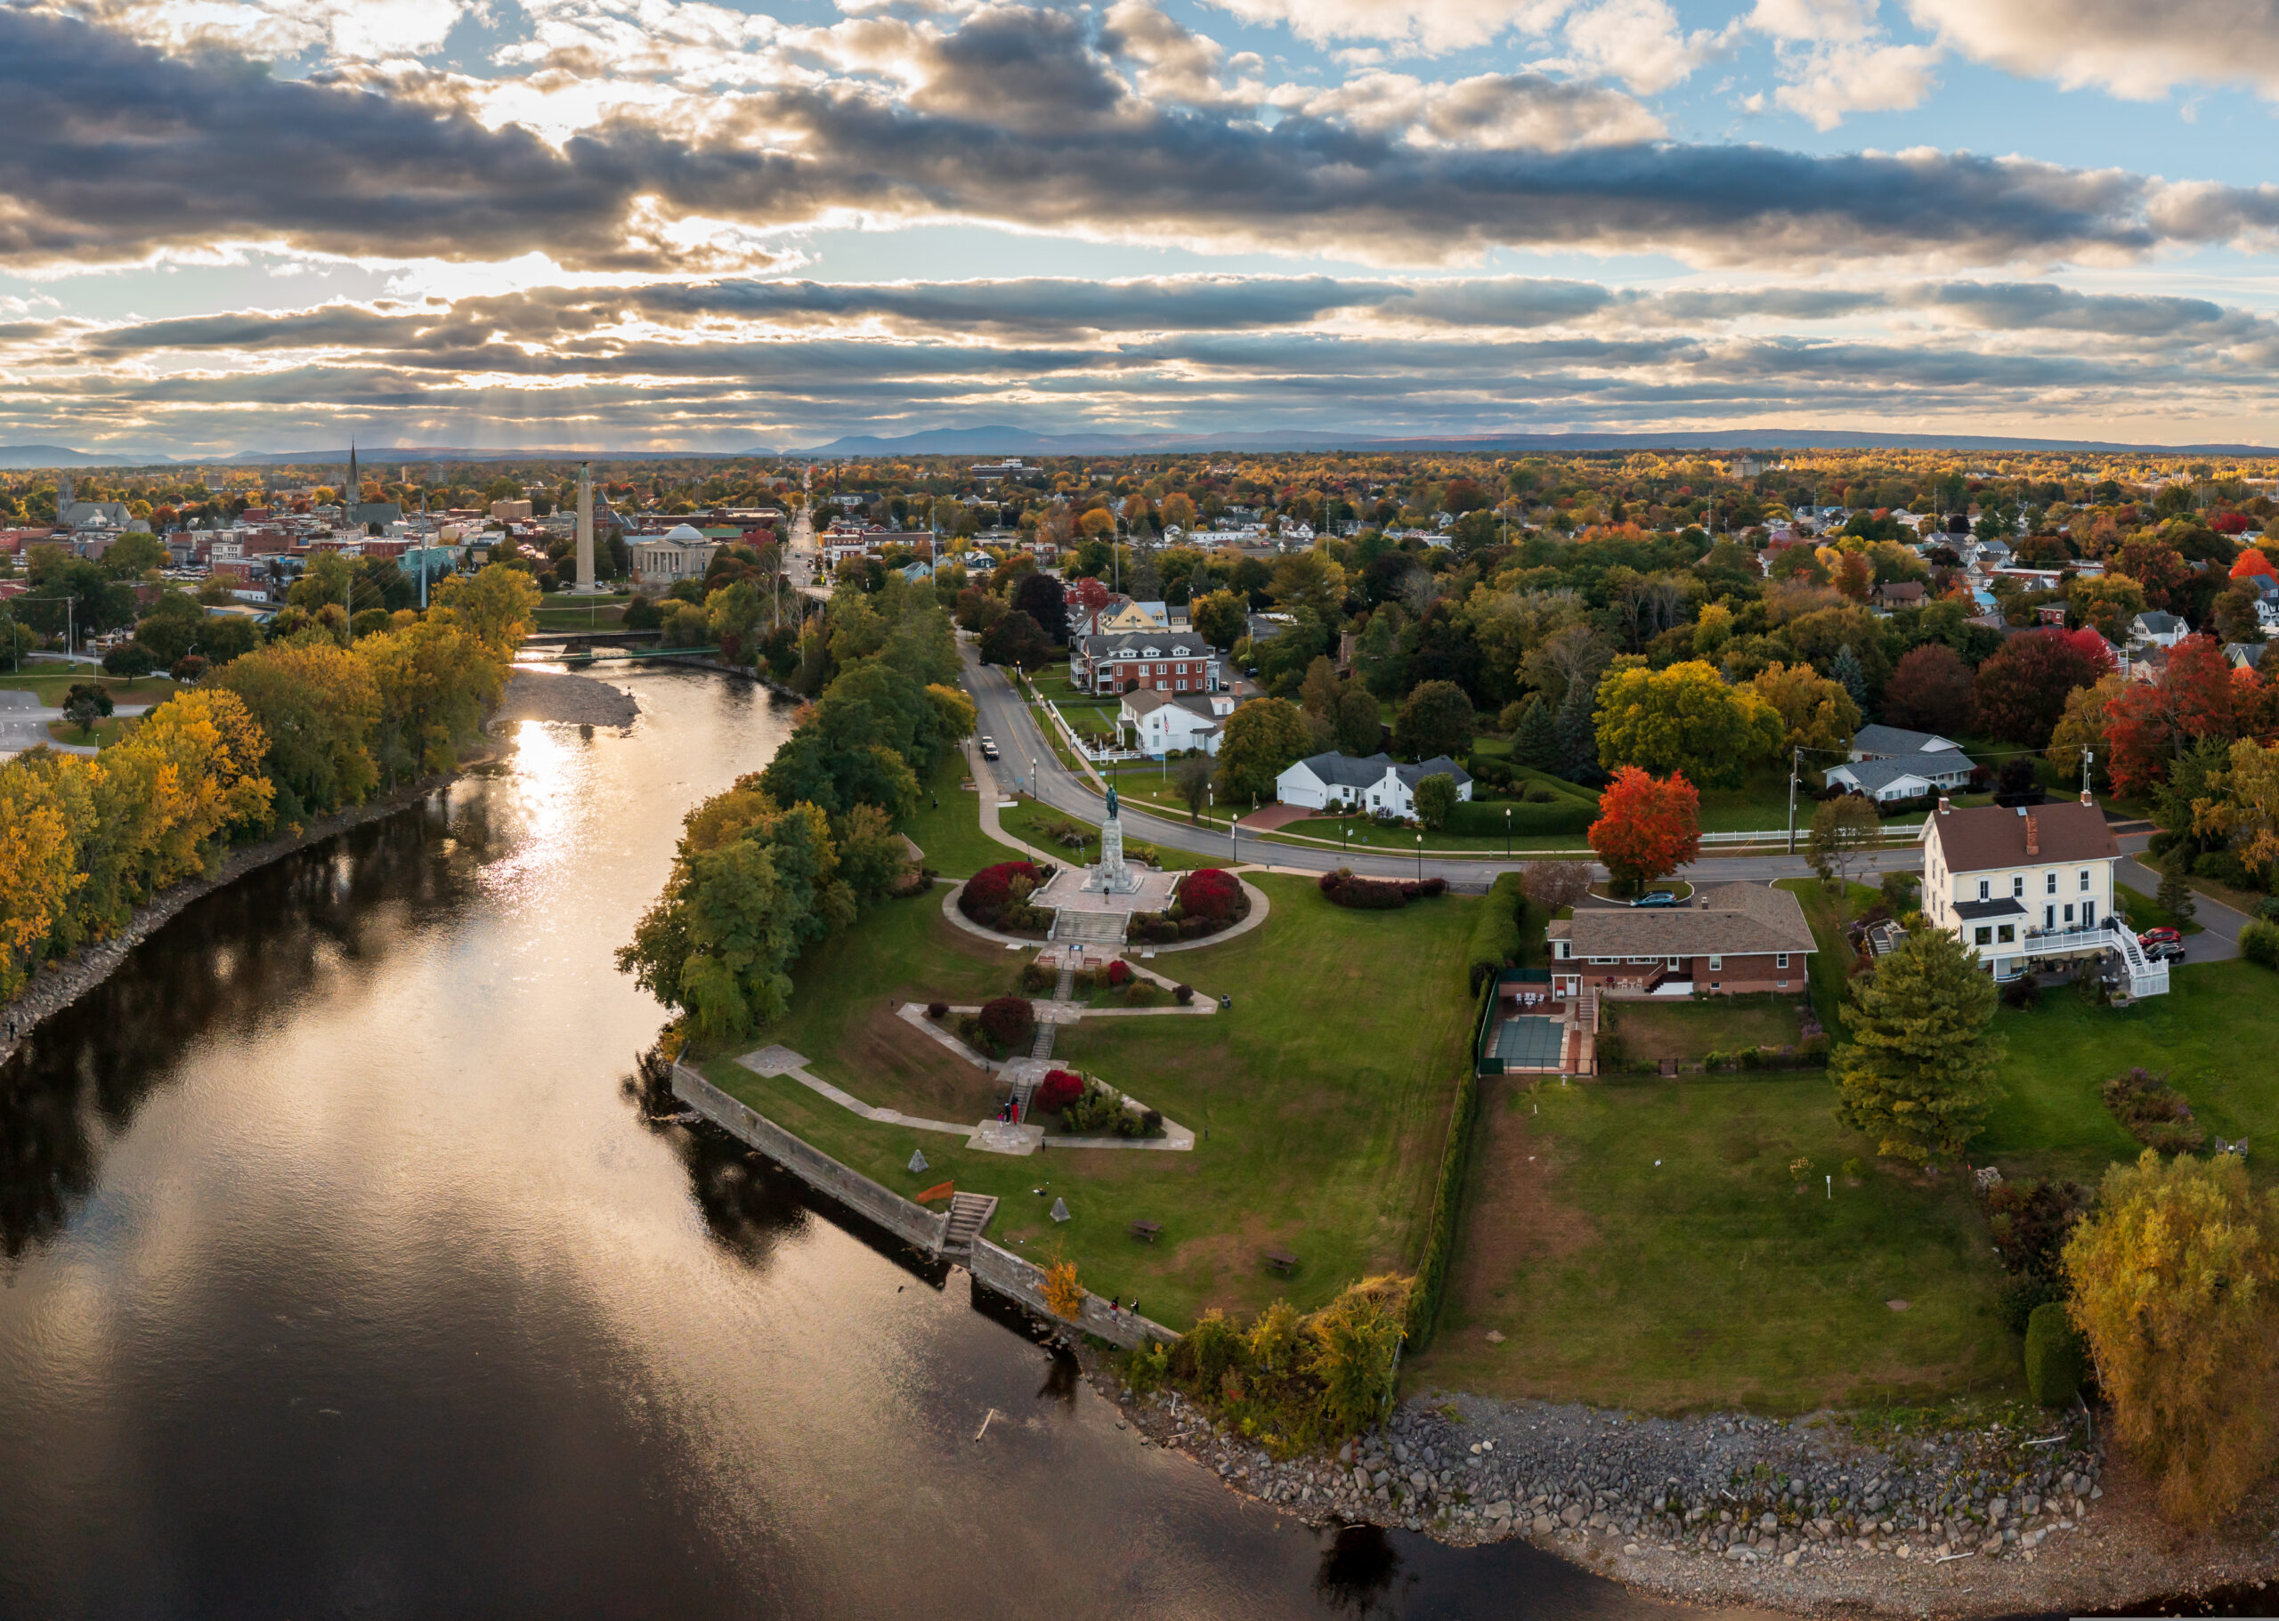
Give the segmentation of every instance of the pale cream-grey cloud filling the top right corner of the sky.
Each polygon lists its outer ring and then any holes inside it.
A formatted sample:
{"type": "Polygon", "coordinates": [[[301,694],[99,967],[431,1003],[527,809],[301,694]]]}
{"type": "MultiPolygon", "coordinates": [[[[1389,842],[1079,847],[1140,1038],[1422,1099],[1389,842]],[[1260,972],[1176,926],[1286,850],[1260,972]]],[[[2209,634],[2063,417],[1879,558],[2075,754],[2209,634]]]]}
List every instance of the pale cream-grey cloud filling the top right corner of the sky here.
{"type": "Polygon", "coordinates": [[[2019,78],[2158,100],[2247,84],[2279,100],[2279,0],[1908,0],[1946,48],[2019,78]]]}

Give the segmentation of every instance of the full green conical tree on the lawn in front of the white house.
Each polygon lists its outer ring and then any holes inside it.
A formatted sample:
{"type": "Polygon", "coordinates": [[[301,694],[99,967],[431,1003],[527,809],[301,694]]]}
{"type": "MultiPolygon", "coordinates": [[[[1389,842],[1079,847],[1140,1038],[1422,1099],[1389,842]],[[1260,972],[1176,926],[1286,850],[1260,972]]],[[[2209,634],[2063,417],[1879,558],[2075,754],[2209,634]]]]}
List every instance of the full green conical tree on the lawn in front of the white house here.
{"type": "Polygon", "coordinates": [[[1960,1156],[1985,1131],[2003,1040],[1994,980],[1960,937],[1912,930],[1851,983],[1837,1053],[1837,1119],[1917,1165],[1960,1156]]]}

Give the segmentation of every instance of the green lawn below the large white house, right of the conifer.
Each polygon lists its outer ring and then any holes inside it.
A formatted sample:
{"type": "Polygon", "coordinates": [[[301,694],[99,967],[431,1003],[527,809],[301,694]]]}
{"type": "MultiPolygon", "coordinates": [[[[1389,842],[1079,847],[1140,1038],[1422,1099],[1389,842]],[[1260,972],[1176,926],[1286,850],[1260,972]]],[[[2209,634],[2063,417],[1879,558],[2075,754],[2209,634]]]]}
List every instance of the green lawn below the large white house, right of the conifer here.
{"type": "MultiPolygon", "coordinates": [[[[2006,1174],[2062,1174],[2094,1183],[2110,1160],[2133,1160],[2135,1138],[2106,1113],[2099,1088],[2142,1065],[2160,1069],[2192,1103],[2208,1135],[2279,1142],[2279,980],[2252,962],[2170,964],[2167,996],[2133,1008],[2094,1008],[2081,992],[2044,992],[2031,1010],[2003,1008],[2010,1040],[2003,1097],[1976,1145],[2006,1174]]],[[[2213,1147],[2213,1145],[2211,1145],[2213,1147]]],[[[2247,1158],[2268,1186],[2270,1154],[2247,1158]]]]}

